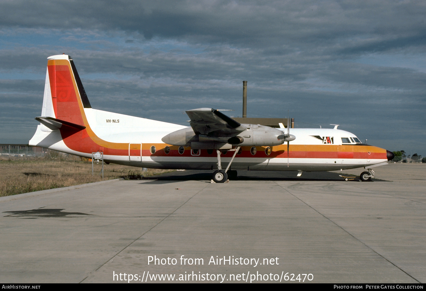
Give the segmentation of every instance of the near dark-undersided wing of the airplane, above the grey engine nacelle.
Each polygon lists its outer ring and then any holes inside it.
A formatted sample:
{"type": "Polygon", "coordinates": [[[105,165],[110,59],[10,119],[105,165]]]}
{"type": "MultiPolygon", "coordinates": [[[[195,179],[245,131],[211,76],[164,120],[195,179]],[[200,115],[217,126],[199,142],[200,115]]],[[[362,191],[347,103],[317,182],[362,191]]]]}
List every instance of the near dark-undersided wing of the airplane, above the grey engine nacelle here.
{"type": "Polygon", "coordinates": [[[198,108],[185,112],[191,119],[189,122],[196,134],[209,134],[212,131],[233,134],[245,130],[240,123],[213,108],[198,108]]]}

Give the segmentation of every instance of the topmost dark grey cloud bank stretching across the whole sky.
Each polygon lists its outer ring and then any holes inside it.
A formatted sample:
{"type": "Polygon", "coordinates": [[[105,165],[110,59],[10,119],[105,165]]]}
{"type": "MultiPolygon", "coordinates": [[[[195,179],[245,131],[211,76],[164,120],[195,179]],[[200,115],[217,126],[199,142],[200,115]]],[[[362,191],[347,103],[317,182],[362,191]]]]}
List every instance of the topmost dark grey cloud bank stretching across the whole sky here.
{"type": "Polygon", "coordinates": [[[426,32],[421,1],[22,0],[0,8],[3,27],[137,31],[252,47],[354,42],[340,50],[346,53],[424,45],[426,32]]]}

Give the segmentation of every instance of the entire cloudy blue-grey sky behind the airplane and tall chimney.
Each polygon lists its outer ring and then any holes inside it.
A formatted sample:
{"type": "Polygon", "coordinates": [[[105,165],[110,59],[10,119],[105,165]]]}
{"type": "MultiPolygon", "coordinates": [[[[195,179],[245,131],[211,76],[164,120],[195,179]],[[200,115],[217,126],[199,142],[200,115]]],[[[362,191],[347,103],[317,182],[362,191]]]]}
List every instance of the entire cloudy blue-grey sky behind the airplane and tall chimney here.
{"type": "Polygon", "coordinates": [[[0,3],[0,143],[28,143],[46,58],[69,54],[93,108],[187,124],[185,110],[290,117],[426,155],[424,1],[0,3]],[[124,87],[124,88],[123,88],[124,87]]]}

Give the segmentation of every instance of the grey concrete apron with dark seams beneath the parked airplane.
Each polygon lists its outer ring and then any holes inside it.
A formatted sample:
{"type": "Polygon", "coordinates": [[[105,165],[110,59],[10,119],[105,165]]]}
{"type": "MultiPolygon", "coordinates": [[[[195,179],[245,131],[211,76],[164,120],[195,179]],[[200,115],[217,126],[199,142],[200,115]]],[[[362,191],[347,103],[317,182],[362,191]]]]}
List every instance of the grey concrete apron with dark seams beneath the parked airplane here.
{"type": "Polygon", "coordinates": [[[426,164],[375,171],[176,171],[1,197],[0,282],[425,283],[426,164]]]}

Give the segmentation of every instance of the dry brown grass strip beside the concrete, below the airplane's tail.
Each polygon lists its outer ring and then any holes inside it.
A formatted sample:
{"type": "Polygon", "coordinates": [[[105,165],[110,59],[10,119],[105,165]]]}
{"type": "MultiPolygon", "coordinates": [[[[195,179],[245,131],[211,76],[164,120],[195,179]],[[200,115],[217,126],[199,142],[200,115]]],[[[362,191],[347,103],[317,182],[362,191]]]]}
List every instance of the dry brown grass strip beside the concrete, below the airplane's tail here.
{"type": "Polygon", "coordinates": [[[171,170],[148,169],[124,165],[82,162],[79,157],[5,157],[0,156],[0,197],[32,191],[60,188],[72,185],[111,180],[115,178],[138,179],[171,170]]]}

